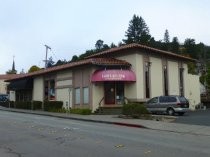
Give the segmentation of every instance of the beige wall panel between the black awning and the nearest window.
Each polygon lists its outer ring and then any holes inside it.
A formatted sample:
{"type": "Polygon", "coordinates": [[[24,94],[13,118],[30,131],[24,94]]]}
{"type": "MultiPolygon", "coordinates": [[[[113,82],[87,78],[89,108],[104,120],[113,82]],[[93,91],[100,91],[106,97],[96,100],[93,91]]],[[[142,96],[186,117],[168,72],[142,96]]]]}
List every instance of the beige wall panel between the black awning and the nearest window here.
{"type": "Polygon", "coordinates": [[[33,100],[35,100],[35,101],[43,101],[44,100],[44,79],[43,79],[43,76],[34,78],[33,100]]]}

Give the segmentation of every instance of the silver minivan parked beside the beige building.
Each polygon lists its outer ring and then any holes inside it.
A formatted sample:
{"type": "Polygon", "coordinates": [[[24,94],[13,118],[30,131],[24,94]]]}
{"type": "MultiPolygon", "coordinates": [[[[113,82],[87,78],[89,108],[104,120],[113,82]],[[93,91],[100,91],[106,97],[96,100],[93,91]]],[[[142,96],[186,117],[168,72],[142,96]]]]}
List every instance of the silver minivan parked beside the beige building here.
{"type": "Polygon", "coordinates": [[[189,102],[183,96],[170,95],[170,96],[158,96],[148,100],[145,103],[148,111],[151,113],[167,113],[174,115],[178,113],[183,115],[189,111],[189,102]]]}

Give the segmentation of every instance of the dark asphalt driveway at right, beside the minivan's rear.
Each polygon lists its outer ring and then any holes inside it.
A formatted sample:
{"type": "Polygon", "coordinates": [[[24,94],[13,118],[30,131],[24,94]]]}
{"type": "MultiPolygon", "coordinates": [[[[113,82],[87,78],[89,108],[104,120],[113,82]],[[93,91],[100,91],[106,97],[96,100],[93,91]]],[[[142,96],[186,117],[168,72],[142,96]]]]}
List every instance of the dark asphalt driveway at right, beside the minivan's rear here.
{"type": "Polygon", "coordinates": [[[210,109],[191,111],[177,116],[175,123],[210,126],[210,109]]]}

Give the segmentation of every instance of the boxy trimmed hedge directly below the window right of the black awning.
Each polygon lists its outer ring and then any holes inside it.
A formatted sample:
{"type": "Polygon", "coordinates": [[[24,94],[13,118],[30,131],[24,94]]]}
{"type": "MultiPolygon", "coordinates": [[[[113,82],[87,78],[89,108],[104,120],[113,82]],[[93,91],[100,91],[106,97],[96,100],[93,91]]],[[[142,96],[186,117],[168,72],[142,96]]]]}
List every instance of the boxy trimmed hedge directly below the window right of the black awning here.
{"type": "Polygon", "coordinates": [[[62,101],[44,101],[44,111],[55,111],[58,109],[62,109],[62,107],[62,101]]]}

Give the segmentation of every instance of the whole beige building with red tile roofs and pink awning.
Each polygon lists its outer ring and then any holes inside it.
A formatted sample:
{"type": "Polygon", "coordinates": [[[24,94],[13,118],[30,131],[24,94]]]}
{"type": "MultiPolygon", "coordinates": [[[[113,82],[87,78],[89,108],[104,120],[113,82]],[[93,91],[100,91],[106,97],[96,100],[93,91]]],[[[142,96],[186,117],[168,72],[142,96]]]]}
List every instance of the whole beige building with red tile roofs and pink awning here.
{"type": "Polygon", "coordinates": [[[195,60],[151,47],[129,44],[82,61],[9,79],[17,101],[63,101],[64,107],[116,107],[159,95],[184,95],[200,103],[199,76],[188,74],[195,60]],[[192,86],[193,85],[193,86],[192,86]]]}

